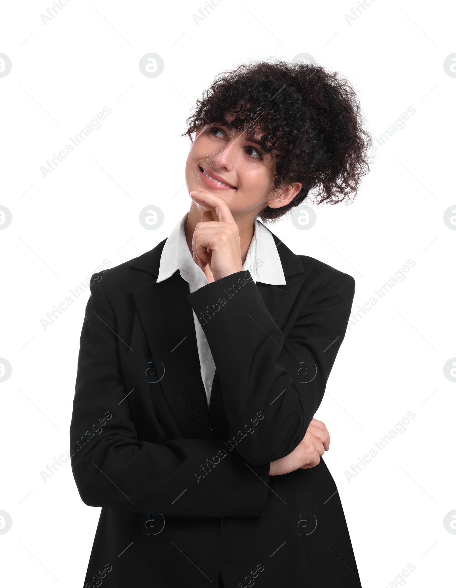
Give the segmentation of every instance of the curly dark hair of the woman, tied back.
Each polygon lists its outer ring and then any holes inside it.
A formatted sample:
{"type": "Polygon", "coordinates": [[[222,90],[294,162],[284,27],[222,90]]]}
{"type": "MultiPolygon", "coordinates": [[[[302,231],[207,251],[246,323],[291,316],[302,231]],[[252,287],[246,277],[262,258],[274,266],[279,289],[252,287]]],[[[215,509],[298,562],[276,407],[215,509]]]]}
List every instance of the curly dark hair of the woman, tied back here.
{"type": "Polygon", "coordinates": [[[274,188],[300,182],[302,188],[282,208],[266,208],[264,221],[280,218],[315,189],[314,201],[337,204],[357,194],[369,171],[372,144],[363,129],[356,93],[337,72],[285,61],[253,62],[223,72],[197,100],[187,120],[188,135],[207,124],[226,125],[249,135],[259,128],[264,152],[274,151],[274,188]]]}

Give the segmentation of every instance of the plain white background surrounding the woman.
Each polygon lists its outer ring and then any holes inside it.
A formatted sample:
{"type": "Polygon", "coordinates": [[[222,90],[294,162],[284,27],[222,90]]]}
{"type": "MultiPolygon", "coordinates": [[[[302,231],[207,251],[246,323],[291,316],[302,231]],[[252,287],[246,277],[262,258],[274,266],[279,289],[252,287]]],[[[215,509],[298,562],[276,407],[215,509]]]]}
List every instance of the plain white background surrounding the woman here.
{"type": "MultiPolygon", "coordinates": [[[[87,290],[46,329],[41,319],[108,259],[111,266],[152,249],[189,208],[184,166],[190,108],[222,70],[299,53],[345,76],[368,130],[379,136],[409,106],[416,112],[381,146],[355,201],[313,206],[317,222],[290,218],[271,230],[296,253],[356,279],[362,306],[408,259],[416,263],[346,339],[318,410],[331,434],[324,459],[336,480],[366,588],[453,585],[456,535],[443,519],[456,509],[456,385],[443,366],[456,356],[454,242],[443,222],[456,203],[452,171],[456,78],[443,62],[456,52],[455,8],[373,0],[348,24],[355,2],[223,0],[196,25],[198,2],[71,0],[46,25],[45,2],[2,7],[0,78],[2,190],[12,213],[0,231],[2,342],[12,375],[0,388],[0,534],[5,586],[79,588],[98,522],[82,503],[66,462],[87,290]],[[139,59],[154,52],[163,73],[147,78],[139,59]],[[58,168],[41,166],[102,111],[112,109],[58,168]],[[159,206],[157,230],[138,220],[159,206]],[[346,471],[407,412],[416,417],[356,477],[346,471]]],[[[72,144],[72,143],[71,143],[72,144]]],[[[378,298],[378,297],[377,297],[378,298]]]]}

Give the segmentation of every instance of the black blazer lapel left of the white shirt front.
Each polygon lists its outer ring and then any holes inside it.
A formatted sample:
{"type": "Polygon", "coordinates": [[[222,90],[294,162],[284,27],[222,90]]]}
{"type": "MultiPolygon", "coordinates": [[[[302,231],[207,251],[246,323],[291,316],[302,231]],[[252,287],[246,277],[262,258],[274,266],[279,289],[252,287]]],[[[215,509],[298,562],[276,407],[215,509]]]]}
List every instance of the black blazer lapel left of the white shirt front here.
{"type": "Polygon", "coordinates": [[[186,439],[210,439],[213,427],[201,379],[193,310],[187,299],[189,285],[179,270],[156,283],[164,243],[130,263],[133,297],[160,377],[149,387],[152,397],[155,386],[161,387],[186,439]]]}

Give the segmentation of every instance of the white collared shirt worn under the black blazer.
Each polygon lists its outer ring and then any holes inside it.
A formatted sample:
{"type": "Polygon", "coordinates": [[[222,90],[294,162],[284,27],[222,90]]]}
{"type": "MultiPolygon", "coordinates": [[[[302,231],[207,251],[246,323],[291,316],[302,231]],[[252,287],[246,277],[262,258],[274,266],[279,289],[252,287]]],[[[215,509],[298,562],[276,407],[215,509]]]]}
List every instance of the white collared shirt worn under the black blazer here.
{"type": "MultiPolygon", "coordinates": [[[[165,246],[160,257],[160,269],[157,283],[163,282],[170,278],[177,269],[186,282],[189,283],[190,293],[195,292],[202,286],[209,284],[203,270],[193,261],[192,253],[189,250],[185,238],[185,223],[188,212],[182,220],[177,223],[175,228],[166,239],[165,246]]],[[[255,228],[252,241],[247,252],[244,270],[249,270],[254,282],[265,284],[275,284],[283,286],[286,284],[285,276],[280,262],[279,252],[277,252],[274,238],[259,220],[255,221],[255,228]]],[[[196,343],[198,346],[198,355],[201,367],[201,377],[203,380],[204,390],[206,390],[207,406],[209,407],[210,393],[216,366],[210,352],[209,343],[206,335],[200,326],[195,312],[193,312],[193,321],[195,322],[196,343]]]]}

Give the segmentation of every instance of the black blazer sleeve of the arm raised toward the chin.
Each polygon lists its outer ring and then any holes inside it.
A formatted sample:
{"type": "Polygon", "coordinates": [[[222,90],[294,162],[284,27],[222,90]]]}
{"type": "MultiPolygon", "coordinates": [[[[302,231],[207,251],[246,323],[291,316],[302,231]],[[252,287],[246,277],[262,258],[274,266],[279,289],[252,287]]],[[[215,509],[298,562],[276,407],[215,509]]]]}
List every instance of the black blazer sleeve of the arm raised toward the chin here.
{"type": "Polygon", "coordinates": [[[248,271],[187,296],[214,358],[230,435],[264,413],[256,432],[236,445],[249,462],[280,459],[303,440],[344,339],[354,290],[354,279],[339,272],[309,295],[299,293],[286,340],[248,271]]]}

